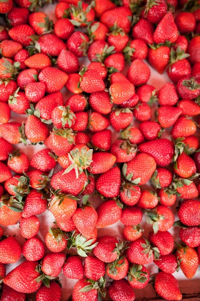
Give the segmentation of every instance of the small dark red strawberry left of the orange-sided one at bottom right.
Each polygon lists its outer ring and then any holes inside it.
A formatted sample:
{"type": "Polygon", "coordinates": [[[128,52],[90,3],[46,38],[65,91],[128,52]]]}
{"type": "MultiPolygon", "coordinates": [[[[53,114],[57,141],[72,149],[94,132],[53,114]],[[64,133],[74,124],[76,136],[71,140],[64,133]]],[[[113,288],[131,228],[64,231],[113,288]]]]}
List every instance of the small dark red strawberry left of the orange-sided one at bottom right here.
{"type": "Polygon", "coordinates": [[[177,268],[177,258],[174,254],[160,255],[159,260],[153,260],[153,262],[167,274],[172,274],[177,268]]]}

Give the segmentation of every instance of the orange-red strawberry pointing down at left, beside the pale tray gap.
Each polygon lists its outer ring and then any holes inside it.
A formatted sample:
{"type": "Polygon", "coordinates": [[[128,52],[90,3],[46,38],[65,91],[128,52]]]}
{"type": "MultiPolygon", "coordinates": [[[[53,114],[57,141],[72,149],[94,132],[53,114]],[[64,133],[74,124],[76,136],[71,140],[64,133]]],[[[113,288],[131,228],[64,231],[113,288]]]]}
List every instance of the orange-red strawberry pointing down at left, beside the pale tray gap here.
{"type": "Polygon", "coordinates": [[[48,136],[48,127],[34,115],[29,115],[25,122],[25,135],[32,143],[44,141],[48,136]]]}

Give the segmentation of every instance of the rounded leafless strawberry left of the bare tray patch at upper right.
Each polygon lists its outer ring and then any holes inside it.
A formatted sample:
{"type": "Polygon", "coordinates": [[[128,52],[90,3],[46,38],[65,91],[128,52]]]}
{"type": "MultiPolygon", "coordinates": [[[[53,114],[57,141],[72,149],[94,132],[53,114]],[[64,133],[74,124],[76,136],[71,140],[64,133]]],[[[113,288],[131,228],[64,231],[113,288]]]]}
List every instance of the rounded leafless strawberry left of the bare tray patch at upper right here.
{"type": "Polygon", "coordinates": [[[145,84],[150,76],[150,69],[141,60],[134,60],[127,72],[127,79],[135,86],[145,84]]]}

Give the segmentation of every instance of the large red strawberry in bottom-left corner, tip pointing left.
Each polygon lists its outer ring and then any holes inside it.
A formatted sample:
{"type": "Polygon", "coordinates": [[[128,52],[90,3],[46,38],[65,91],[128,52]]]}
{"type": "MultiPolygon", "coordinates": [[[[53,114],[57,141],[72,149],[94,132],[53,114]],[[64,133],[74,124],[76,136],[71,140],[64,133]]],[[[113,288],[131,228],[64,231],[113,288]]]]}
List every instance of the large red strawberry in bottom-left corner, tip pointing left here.
{"type": "Polygon", "coordinates": [[[37,265],[37,261],[22,262],[3,278],[3,283],[19,292],[34,292],[41,285],[41,281],[34,281],[39,276],[37,265]]]}

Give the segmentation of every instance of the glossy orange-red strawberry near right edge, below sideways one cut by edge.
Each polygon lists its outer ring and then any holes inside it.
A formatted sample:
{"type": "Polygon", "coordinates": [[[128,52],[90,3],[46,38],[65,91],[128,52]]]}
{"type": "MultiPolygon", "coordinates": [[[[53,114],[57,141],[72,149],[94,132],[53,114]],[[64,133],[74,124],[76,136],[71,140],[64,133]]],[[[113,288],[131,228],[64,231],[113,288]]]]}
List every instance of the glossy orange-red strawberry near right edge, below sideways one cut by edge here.
{"type": "Polygon", "coordinates": [[[171,136],[173,139],[177,139],[178,137],[188,137],[193,135],[195,131],[196,125],[191,119],[179,117],[172,127],[171,136]]]}

